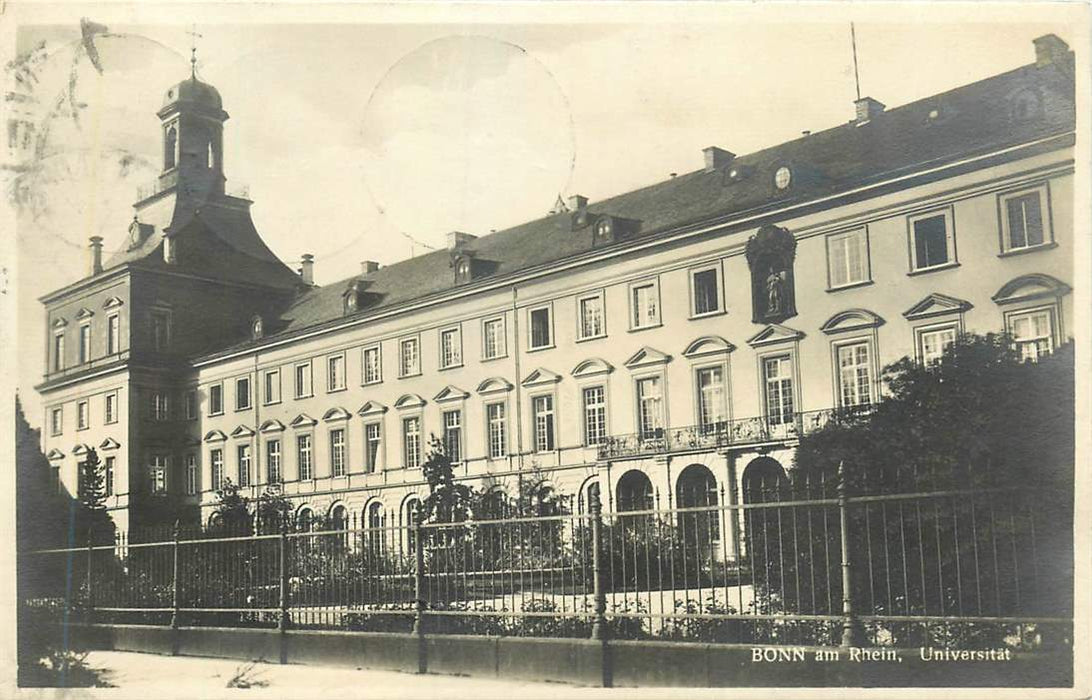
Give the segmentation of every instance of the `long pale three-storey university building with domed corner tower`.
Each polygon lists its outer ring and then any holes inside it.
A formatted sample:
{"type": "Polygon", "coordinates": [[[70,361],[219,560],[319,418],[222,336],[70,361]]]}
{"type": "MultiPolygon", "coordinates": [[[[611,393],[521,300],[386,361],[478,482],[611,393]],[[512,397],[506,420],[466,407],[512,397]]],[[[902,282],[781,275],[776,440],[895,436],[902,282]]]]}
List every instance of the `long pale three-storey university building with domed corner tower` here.
{"type": "Polygon", "coordinates": [[[1073,90],[1044,36],[1017,70],[320,287],[227,193],[228,115],[187,79],[124,249],[93,238],[41,299],[44,450],[74,494],[96,449],[121,526],[205,521],[226,478],[402,524],[434,435],[510,496],[739,502],[895,359],[960,331],[1028,358],[1069,339],[1073,90]]]}

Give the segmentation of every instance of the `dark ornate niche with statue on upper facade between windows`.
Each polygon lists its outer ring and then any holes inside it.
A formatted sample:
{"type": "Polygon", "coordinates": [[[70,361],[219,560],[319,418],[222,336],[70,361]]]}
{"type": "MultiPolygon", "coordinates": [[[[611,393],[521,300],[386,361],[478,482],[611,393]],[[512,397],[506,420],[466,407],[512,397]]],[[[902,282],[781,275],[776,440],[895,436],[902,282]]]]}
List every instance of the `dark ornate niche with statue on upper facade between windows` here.
{"type": "Polygon", "coordinates": [[[756,323],[780,323],[796,316],[793,235],[768,224],[750,237],[746,252],[751,273],[751,319],[756,323]]]}

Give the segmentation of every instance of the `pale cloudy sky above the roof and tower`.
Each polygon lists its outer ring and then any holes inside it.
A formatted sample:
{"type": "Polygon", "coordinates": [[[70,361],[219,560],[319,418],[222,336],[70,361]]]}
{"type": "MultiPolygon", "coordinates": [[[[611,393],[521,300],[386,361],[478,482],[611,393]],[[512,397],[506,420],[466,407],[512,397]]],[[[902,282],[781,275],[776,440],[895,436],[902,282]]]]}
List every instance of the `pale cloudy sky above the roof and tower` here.
{"type": "MultiPolygon", "coordinates": [[[[686,7],[626,21],[569,5],[382,22],[366,12],[346,22],[343,11],[335,22],[316,5],[258,24],[83,5],[24,20],[12,56],[28,59],[43,138],[21,163],[17,200],[10,166],[23,156],[9,153],[0,176],[16,221],[9,342],[32,425],[45,360],[37,298],[86,274],[88,236],[104,237],[107,257],[121,245],[136,189],[162,165],[155,111],[189,76],[194,41],[198,76],[230,115],[228,190],[246,187],[272,250],[294,268],[314,254],[316,281],[328,284],[363,260],[443,247],[452,230],[537,218],[559,195],[594,202],[698,169],[705,146],[746,154],[852,119],[851,20],[860,93],[889,107],[1030,63],[1036,36],[1080,38],[1045,9],[953,21],[933,8],[835,16],[737,5],[710,16],[686,7]],[[81,48],[81,16],[108,27],[95,39],[102,71],[81,48]]],[[[7,90],[16,74],[9,63],[7,90]]]]}

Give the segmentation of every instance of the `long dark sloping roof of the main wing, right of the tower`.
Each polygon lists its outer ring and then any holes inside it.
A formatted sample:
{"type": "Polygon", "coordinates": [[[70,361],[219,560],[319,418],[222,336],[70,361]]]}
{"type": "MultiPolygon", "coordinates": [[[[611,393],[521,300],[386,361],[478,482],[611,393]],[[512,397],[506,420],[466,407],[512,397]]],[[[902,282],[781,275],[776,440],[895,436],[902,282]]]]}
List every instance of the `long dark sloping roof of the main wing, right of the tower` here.
{"type": "MultiPolygon", "coordinates": [[[[1068,62],[1025,66],[970,85],[889,109],[787,143],[738,156],[707,173],[696,170],[587,205],[592,214],[639,220],[627,241],[719,216],[802,202],[929,165],[1025,143],[1075,128],[1072,54],[1068,62]],[[1022,117],[1019,112],[1026,111],[1022,117]],[[785,191],[773,185],[779,167],[793,170],[785,191]],[[746,177],[733,180],[737,169],[746,177]]],[[[556,262],[592,249],[587,229],[571,230],[571,214],[555,214],[465,245],[492,268],[490,278],[556,262]]],[[[367,280],[372,300],[357,316],[453,288],[450,253],[435,251],[355,276],[298,297],[261,343],[333,324],[346,317],[342,294],[367,280]]],[[[232,349],[257,343],[244,342],[232,349]]]]}

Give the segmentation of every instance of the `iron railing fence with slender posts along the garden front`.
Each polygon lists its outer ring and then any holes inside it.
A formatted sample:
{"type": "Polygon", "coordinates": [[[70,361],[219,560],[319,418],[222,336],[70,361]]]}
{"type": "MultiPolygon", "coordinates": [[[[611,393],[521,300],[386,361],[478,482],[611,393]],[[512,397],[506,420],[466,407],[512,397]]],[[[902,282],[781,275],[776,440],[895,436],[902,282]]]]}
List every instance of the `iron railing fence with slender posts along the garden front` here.
{"type": "Polygon", "coordinates": [[[1071,495],[1049,489],[819,482],[741,503],[363,525],[27,553],[24,595],[174,626],[964,649],[1072,634],[1071,495]]]}

